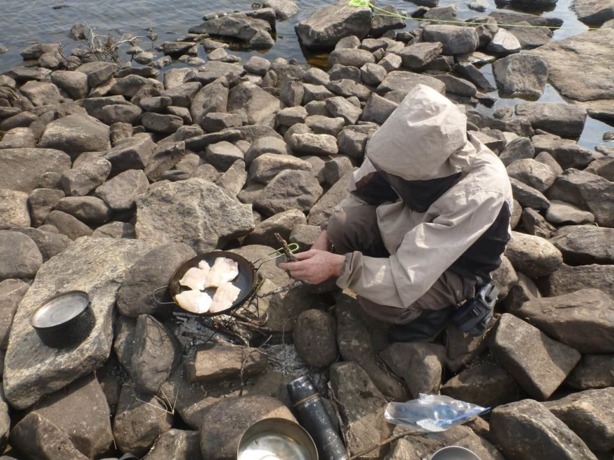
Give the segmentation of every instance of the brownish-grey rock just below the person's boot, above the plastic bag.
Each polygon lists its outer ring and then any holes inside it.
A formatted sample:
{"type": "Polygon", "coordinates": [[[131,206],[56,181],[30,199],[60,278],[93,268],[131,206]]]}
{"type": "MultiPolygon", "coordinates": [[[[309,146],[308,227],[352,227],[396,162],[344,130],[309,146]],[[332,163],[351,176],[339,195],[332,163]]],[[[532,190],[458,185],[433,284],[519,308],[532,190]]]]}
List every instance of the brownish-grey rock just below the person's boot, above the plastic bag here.
{"type": "Polygon", "coordinates": [[[437,394],[442,384],[445,349],[437,344],[391,344],[380,358],[403,378],[414,398],[419,393],[437,394]]]}

